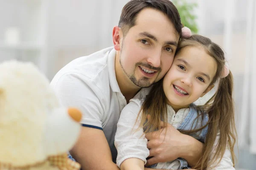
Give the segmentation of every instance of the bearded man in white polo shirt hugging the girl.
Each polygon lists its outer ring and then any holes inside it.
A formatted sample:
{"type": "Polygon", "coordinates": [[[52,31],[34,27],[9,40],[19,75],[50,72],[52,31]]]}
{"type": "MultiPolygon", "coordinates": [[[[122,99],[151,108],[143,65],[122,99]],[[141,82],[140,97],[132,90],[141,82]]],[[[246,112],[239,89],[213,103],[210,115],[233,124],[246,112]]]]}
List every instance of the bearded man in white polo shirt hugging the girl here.
{"type": "MultiPolygon", "coordinates": [[[[61,103],[83,113],[81,135],[70,151],[83,170],[119,170],[114,136],[122,108],[169,70],[181,28],[169,0],[131,0],[113,28],[114,47],[73,60],[52,79],[61,103]]],[[[203,144],[171,125],[165,128],[166,136],[146,134],[148,164],[182,157],[195,165],[203,144]]]]}

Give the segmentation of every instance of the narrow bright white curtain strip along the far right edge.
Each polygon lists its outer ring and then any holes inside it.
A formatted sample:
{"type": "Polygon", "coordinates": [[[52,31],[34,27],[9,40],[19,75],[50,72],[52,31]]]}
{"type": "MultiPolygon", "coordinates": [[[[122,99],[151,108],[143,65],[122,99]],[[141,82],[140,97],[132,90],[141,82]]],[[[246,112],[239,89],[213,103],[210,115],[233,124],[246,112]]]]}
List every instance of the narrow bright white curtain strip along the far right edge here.
{"type": "MultiPolygon", "coordinates": [[[[247,122],[249,122],[249,142],[244,140],[244,144],[249,144],[250,153],[256,154],[256,111],[254,111],[254,102],[256,102],[256,2],[250,0],[248,4],[248,23],[247,23],[247,51],[246,51],[246,69],[244,76],[244,96],[242,109],[247,112],[247,116],[241,123],[241,130],[246,130],[247,122]],[[246,110],[246,108],[248,108],[246,110]]],[[[248,128],[247,127],[247,128],[248,128]]],[[[242,132],[243,132],[242,131],[242,132]]],[[[246,139],[247,136],[244,136],[246,139]]]]}

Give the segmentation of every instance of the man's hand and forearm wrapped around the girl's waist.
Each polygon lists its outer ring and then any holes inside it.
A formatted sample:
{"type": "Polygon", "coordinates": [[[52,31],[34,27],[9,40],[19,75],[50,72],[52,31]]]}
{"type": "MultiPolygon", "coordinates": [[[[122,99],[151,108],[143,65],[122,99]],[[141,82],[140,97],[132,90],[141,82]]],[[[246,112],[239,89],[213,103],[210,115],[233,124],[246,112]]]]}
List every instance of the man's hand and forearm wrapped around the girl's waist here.
{"type": "Polygon", "coordinates": [[[146,166],[173,161],[177,158],[186,159],[190,166],[194,166],[201,156],[204,144],[191,136],[180,133],[168,123],[161,122],[161,127],[162,129],[145,135],[150,152],[148,157],[152,157],[147,160],[146,166]]]}

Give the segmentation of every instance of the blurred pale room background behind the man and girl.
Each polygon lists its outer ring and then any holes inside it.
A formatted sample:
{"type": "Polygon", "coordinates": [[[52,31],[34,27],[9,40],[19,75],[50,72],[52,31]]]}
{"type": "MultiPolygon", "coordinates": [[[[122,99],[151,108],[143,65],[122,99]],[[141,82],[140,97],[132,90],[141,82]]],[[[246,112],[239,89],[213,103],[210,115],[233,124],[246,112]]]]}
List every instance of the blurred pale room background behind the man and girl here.
{"type": "MultiPolygon", "coordinates": [[[[256,166],[256,1],[172,0],[182,22],[221,45],[235,79],[236,169],[256,166]]],[[[71,60],[112,46],[128,0],[0,0],[0,62],[32,61],[51,80],[71,60]]]]}

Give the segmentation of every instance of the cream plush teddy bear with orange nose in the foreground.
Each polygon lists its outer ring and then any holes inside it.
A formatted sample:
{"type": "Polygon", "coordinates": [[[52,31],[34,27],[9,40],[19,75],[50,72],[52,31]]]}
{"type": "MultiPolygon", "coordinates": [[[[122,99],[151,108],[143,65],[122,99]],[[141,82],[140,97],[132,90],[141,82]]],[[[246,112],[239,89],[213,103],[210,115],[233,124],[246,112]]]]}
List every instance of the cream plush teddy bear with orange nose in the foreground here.
{"type": "Polygon", "coordinates": [[[77,109],[61,107],[35,65],[0,64],[0,170],[79,170],[67,151],[80,120],[77,109]]]}

